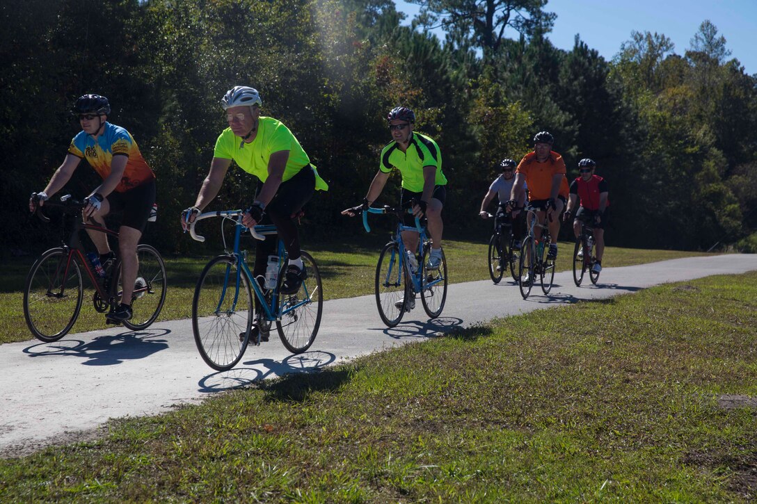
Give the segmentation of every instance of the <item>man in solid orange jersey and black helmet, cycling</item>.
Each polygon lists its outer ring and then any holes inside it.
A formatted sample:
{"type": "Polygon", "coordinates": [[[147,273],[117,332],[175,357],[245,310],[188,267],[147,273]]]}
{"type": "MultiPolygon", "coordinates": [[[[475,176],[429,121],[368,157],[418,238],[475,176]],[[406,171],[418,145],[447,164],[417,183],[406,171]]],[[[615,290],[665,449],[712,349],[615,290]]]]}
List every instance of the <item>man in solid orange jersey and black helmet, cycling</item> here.
{"type": "MultiPolygon", "coordinates": [[[[560,232],[559,215],[568,202],[568,179],[565,179],[565,161],[552,150],[555,138],[546,131],[534,135],[534,151],[526,154],[516,170],[516,183],[512,186],[510,199],[516,199],[524,184],[528,184],[528,202],[537,211],[538,219],[549,215],[548,223],[552,243],[547,257],[557,257],[557,235],[560,232]]],[[[519,210],[513,210],[517,216],[519,210]]],[[[534,229],[535,238],[541,236],[541,229],[534,229]]]]}

